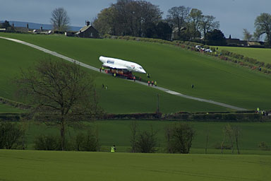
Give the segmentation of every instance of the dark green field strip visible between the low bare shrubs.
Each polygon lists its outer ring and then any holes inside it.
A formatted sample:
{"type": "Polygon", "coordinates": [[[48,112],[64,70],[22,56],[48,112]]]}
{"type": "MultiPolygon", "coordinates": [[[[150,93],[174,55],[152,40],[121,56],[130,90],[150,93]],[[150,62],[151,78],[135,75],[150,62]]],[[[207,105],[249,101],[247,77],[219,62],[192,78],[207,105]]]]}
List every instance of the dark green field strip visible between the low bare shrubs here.
{"type": "MultiPolygon", "coordinates": [[[[115,144],[118,151],[127,152],[130,147],[130,136],[131,136],[131,123],[132,121],[96,121],[91,123],[85,123],[85,126],[94,127],[98,130],[100,145],[102,151],[109,151],[110,146],[115,144]]],[[[157,139],[159,152],[163,152],[165,147],[165,127],[169,124],[175,123],[174,121],[137,121],[140,131],[147,130],[150,128],[157,132],[157,139]]],[[[192,153],[205,153],[206,133],[208,133],[208,153],[219,153],[220,150],[215,150],[215,146],[220,145],[223,141],[223,128],[227,122],[191,122],[195,129],[195,139],[192,143],[192,153]]],[[[261,141],[264,141],[267,146],[271,146],[271,122],[235,122],[230,123],[233,126],[238,126],[241,130],[241,136],[239,140],[239,148],[241,153],[250,154],[271,154],[270,151],[260,151],[258,145],[261,141]],[[251,152],[249,152],[251,151],[251,152]]],[[[40,134],[44,135],[59,135],[57,127],[47,127],[45,124],[35,124],[30,122],[27,125],[27,146],[28,149],[33,148],[33,142],[36,136],[40,134]]],[[[75,136],[78,132],[86,132],[86,129],[72,129],[69,128],[67,136],[75,136]]],[[[227,141],[229,144],[229,141],[227,141]]],[[[236,149],[236,147],[235,147],[236,149]]],[[[229,151],[228,151],[229,153],[229,151]]],[[[235,150],[234,153],[237,153],[235,150]]]]}

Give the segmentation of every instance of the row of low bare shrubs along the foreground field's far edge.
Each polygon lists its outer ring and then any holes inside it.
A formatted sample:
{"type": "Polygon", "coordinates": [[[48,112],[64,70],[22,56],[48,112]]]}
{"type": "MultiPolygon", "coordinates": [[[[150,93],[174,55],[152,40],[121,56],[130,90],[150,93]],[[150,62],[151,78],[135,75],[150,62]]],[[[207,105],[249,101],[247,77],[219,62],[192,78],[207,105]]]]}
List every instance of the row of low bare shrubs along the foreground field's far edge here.
{"type": "MultiPolygon", "coordinates": [[[[25,149],[25,128],[24,124],[16,122],[0,122],[0,149],[25,149]]],[[[80,132],[75,136],[70,135],[65,140],[66,151],[100,151],[99,134],[97,127],[90,127],[81,124],[80,132]]],[[[132,153],[155,153],[160,147],[157,139],[157,130],[150,126],[150,130],[140,131],[138,122],[131,122],[131,152],[132,153]]],[[[209,132],[206,131],[205,153],[207,153],[209,132]]],[[[239,142],[241,137],[241,129],[239,126],[226,124],[223,127],[223,139],[221,144],[215,144],[215,148],[230,149],[234,153],[234,148],[239,151],[239,142]],[[235,146],[234,146],[235,145],[235,146]]],[[[176,122],[168,124],[164,127],[165,150],[167,153],[190,153],[192,141],[195,136],[195,130],[188,123],[176,122]]],[[[60,151],[62,150],[61,137],[54,135],[39,135],[35,137],[34,148],[36,150],[60,151]]],[[[265,142],[260,142],[261,150],[269,150],[265,142]]]]}

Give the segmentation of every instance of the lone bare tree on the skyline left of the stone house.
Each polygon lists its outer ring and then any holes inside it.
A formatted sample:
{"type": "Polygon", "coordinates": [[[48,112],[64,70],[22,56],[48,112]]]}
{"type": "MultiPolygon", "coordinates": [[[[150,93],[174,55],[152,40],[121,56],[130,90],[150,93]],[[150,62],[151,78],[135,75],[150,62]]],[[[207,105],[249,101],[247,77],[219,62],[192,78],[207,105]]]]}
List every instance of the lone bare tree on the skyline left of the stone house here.
{"type": "Polygon", "coordinates": [[[64,8],[55,8],[52,11],[51,23],[54,30],[66,31],[68,30],[68,24],[70,23],[70,18],[68,18],[68,13],[64,8]]]}

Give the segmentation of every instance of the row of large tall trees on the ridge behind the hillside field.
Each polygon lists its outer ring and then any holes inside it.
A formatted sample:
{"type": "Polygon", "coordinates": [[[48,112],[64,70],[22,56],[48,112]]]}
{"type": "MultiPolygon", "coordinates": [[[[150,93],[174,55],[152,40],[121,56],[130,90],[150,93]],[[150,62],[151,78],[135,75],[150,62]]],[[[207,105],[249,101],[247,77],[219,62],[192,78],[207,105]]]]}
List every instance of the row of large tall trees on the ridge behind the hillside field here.
{"type": "Polygon", "coordinates": [[[170,40],[172,29],[178,28],[180,40],[207,38],[207,32],[219,28],[214,16],[205,16],[196,8],[170,8],[166,19],[162,11],[147,1],[118,0],[104,8],[93,25],[102,34],[158,37],[170,40]],[[184,31],[182,31],[184,30],[184,31]]]}

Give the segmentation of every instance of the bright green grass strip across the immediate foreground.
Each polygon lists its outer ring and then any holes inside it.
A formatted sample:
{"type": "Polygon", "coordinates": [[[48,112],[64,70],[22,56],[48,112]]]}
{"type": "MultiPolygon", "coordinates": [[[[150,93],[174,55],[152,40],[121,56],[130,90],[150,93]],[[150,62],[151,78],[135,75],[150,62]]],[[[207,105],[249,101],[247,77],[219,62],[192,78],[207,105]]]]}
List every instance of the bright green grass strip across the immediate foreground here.
{"type": "Polygon", "coordinates": [[[0,180],[270,180],[271,156],[0,150],[0,180]]]}

